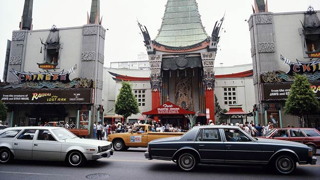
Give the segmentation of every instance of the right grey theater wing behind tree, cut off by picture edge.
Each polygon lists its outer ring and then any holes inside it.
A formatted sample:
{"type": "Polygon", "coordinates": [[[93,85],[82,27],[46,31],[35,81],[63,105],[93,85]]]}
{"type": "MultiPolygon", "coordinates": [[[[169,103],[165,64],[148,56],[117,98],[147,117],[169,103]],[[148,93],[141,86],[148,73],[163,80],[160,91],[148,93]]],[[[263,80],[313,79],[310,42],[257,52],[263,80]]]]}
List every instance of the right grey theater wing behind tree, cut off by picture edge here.
{"type": "MultiPolygon", "coordinates": [[[[319,115],[298,117],[284,114],[294,73],[306,75],[320,98],[320,12],[272,13],[264,1],[254,1],[248,20],[251,36],[255,115],[259,122],[278,120],[279,127],[318,127],[319,115]]],[[[308,5],[306,5],[308,6],[308,5]]]]}

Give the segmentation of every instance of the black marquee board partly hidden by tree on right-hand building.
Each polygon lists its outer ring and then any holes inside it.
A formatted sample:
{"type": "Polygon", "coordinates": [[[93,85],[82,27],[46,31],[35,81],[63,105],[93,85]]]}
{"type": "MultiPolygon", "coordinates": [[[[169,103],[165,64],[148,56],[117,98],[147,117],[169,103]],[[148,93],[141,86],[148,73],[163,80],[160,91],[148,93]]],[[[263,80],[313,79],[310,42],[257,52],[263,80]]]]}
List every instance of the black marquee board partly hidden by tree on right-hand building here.
{"type": "MultiPolygon", "coordinates": [[[[285,100],[290,94],[292,83],[282,84],[262,84],[262,99],[264,101],[285,100]]],[[[310,88],[320,99],[320,82],[311,82],[310,88]]]]}

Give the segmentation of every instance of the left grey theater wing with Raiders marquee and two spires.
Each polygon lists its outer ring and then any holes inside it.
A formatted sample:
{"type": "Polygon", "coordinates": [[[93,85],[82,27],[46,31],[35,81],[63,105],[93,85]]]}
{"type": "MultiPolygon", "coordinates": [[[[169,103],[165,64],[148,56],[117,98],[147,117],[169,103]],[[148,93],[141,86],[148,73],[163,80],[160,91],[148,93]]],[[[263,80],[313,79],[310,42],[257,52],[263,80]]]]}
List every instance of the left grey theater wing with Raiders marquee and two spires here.
{"type": "MultiPolygon", "coordinates": [[[[102,119],[105,29],[99,1],[93,0],[88,24],[32,29],[32,0],[26,0],[19,30],[13,31],[0,98],[10,126],[49,121],[88,128],[102,119]]],[[[10,44],[10,43],[8,43],[10,44]]]]}

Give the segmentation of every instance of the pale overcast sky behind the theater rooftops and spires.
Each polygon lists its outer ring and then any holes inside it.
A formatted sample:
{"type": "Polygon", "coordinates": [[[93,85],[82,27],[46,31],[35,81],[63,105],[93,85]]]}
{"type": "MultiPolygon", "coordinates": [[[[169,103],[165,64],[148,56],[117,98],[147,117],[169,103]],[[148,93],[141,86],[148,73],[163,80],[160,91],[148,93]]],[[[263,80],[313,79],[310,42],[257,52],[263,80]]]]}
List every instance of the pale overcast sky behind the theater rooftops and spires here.
{"type": "MultiPolygon", "coordinates": [[[[24,0],[0,1],[0,79],[6,55],[7,39],[11,40],[12,31],[18,30],[24,8],[24,0]]],[[[106,31],[104,66],[110,62],[134,61],[137,55],[146,53],[137,19],[147,27],[154,39],[161,26],[167,0],[100,0],[100,18],[106,31]]],[[[253,0],[197,0],[202,24],[211,35],[215,22],[225,12],[219,49],[215,66],[230,66],[252,63],[248,23],[252,14],[253,0]],[[223,64],[221,64],[223,63],[223,64]]],[[[269,0],[270,12],[306,11],[311,5],[320,10],[319,0],[269,0]]],[[[91,0],[34,0],[33,30],[77,27],[87,23],[91,0]]],[[[231,73],[231,72],[230,72],[231,73]]]]}

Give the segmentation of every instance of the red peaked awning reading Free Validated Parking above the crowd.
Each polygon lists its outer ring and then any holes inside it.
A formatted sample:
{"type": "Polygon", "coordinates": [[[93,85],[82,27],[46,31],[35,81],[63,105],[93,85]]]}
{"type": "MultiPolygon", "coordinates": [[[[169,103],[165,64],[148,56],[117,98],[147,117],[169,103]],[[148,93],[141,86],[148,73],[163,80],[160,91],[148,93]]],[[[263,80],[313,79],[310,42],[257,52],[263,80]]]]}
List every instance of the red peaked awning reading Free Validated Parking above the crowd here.
{"type": "Polygon", "coordinates": [[[195,111],[185,110],[174,103],[166,102],[159,107],[142,113],[143,115],[194,115],[195,111]]]}

